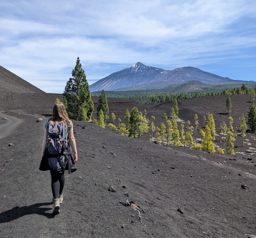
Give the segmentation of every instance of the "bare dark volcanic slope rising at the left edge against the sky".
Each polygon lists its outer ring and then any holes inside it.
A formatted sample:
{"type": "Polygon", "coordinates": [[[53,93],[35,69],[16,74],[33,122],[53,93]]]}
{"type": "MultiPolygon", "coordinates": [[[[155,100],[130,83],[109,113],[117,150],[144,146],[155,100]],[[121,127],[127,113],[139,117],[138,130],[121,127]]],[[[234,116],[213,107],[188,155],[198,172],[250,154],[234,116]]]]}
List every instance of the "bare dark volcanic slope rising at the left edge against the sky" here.
{"type": "Polygon", "coordinates": [[[0,94],[3,93],[45,93],[21,77],[0,66],[0,94]]]}

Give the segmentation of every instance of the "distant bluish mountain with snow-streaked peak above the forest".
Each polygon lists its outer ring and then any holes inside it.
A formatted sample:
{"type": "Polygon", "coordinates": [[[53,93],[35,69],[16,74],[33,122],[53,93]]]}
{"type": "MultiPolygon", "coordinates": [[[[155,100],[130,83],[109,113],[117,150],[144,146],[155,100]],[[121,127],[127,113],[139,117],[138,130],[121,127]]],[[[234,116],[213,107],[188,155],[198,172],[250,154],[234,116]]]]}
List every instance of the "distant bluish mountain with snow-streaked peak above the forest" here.
{"type": "Polygon", "coordinates": [[[232,80],[216,74],[205,72],[195,67],[181,67],[174,70],[163,70],[146,66],[140,62],[124,70],[117,71],[91,84],[90,91],[104,90],[138,90],[163,88],[174,83],[185,83],[191,80],[207,84],[254,83],[254,81],[232,80]]]}

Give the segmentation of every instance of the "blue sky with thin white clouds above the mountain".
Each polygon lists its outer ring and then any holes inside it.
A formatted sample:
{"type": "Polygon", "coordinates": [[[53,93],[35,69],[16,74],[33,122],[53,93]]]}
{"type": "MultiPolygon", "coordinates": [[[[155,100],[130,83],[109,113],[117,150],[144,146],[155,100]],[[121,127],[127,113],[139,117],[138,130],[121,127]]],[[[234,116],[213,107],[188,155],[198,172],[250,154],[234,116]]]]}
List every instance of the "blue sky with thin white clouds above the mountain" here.
{"type": "Polygon", "coordinates": [[[62,93],[77,56],[89,84],[137,62],[256,81],[256,2],[0,2],[1,66],[62,93]]]}

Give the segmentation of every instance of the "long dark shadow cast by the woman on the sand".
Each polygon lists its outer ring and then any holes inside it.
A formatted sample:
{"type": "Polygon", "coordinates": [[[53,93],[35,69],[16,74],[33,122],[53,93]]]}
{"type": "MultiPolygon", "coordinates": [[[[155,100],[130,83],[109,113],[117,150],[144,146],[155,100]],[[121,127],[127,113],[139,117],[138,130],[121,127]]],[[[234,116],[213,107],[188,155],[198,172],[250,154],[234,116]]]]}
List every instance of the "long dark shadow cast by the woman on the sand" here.
{"type": "Polygon", "coordinates": [[[52,202],[45,203],[36,203],[30,206],[24,207],[14,207],[8,211],[0,213],[0,223],[10,222],[20,217],[30,215],[30,214],[38,214],[46,216],[47,218],[54,218],[54,214],[47,213],[45,211],[52,210],[52,208],[40,208],[41,206],[47,206],[53,204],[52,202]]]}

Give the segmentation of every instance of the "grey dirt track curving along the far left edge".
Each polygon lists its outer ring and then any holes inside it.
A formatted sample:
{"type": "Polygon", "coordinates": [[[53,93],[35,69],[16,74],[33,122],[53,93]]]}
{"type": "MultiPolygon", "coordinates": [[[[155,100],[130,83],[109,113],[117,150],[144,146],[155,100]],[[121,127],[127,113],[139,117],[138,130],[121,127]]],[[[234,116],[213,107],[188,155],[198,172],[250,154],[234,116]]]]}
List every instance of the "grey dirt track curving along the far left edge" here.
{"type": "Polygon", "coordinates": [[[0,139],[7,137],[10,133],[18,127],[22,123],[22,119],[11,117],[3,113],[5,111],[1,111],[1,115],[3,118],[7,119],[7,122],[0,126],[0,139]]]}

